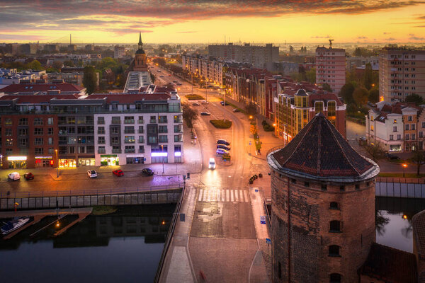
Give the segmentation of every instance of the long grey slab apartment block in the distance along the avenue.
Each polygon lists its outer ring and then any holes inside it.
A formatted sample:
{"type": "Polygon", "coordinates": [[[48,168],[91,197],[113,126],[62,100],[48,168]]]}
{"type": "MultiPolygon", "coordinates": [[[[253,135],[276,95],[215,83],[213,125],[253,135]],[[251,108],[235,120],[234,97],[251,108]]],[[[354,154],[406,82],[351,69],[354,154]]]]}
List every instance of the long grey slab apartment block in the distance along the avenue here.
{"type": "Polygon", "coordinates": [[[279,47],[270,44],[256,46],[244,45],[208,45],[208,54],[222,60],[232,60],[239,63],[249,63],[254,68],[271,68],[273,62],[279,60],[279,47]]]}

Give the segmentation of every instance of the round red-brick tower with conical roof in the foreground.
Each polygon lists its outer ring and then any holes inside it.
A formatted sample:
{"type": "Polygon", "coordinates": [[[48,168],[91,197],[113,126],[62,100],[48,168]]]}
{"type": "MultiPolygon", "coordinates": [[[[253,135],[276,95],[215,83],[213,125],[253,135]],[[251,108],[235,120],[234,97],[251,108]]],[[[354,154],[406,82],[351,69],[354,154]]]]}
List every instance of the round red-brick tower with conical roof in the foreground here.
{"type": "Polygon", "coordinates": [[[273,282],[358,282],[375,241],[378,165],[321,113],[267,161],[273,282]]]}

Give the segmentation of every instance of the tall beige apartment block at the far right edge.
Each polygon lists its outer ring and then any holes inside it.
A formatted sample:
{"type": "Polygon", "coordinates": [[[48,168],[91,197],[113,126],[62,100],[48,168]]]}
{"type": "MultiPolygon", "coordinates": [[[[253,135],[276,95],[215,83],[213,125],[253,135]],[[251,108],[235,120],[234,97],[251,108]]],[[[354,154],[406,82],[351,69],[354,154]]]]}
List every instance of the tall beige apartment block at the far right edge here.
{"type": "Polygon", "coordinates": [[[387,101],[404,101],[416,93],[425,98],[425,50],[385,47],[379,54],[379,93],[387,101]]]}

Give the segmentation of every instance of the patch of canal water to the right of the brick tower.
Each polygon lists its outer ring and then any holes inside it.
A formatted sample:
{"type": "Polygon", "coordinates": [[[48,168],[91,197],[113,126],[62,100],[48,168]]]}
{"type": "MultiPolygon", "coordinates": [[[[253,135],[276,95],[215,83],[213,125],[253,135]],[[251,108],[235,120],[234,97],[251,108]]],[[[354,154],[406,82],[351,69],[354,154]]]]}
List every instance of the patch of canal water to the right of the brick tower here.
{"type": "Polygon", "coordinates": [[[412,253],[412,217],[425,209],[425,200],[376,197],[375,209],[376,242],[412,253]]]}

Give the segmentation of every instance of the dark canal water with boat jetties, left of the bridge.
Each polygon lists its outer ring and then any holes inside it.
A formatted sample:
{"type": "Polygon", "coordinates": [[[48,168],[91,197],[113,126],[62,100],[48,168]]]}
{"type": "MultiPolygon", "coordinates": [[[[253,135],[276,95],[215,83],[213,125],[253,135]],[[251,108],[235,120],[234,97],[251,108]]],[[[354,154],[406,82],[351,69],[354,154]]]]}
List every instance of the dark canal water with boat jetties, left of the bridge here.
{"type": "MultiPolygon", "coordinates": [[[[88,216],[56,238],[42,219],[0,240],[1,282],[153,282],[175,204],[118,207],[88,216]]],[[[61,219],[61,226],[74,216],[61,219]]]]}

